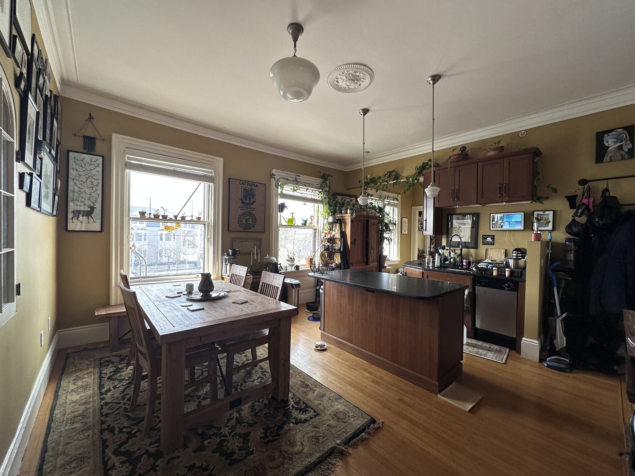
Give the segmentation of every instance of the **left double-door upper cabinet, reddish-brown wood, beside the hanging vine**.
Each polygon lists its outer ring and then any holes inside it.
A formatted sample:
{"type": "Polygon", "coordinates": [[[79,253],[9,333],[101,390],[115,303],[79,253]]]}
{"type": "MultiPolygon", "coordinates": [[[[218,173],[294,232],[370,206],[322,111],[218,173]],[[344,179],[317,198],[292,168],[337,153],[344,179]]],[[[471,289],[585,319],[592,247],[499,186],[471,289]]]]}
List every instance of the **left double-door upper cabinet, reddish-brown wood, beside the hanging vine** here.
{"type": "Polygon", "coordinates": [[[436,184],[441,191],[436,197],[439,208],[476,204],[478,163],[440,167],[436,170],[436,184]]]}

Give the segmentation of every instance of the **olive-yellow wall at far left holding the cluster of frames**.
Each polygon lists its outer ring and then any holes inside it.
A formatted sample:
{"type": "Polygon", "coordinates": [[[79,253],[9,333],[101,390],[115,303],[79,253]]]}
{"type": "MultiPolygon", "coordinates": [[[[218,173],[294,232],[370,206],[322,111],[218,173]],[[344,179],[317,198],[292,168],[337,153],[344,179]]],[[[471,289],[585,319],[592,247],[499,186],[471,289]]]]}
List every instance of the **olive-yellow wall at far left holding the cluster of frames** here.
{"type": "MultiPolygon", "coordinates": [[[[35,13],[32,13],[31,27],[46,56],[35,13]]],[[[19,148],[22,98],[13,86],[18,68],[3,50],[0,50],[0,63],[11,82],[19,148]]],[[[51,89],[57,93],[55,79],[51,83],[51,89]]],[[[25,166],[18,164],[17,173],[25,170],[25,166]]],[[[27,208],[25,193],[17,189],[17,180],[15,193],[17,281],[22,284],[22,295],[17,297],[17,314],[0,327],[0,464],[13,440],[37,374],[57,330],[55,218],[27,208]],[[48,317],[51,317],[50,332],[48,317]],[[40,331],[44,331],[43,347],[39,344],[40,331]]]]}

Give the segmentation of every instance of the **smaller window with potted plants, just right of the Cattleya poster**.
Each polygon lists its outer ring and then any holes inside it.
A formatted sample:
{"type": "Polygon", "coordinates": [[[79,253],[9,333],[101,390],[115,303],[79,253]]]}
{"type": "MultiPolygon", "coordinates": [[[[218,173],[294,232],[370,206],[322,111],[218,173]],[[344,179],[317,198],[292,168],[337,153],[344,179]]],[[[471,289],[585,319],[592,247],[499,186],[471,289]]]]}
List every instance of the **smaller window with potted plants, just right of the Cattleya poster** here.
{"type": "Polygon", "coordinates": [[[322,201],[319,180],[309,176],[272,171],[276,223],[272,242],[277,243],[276,259],[283,265],[294,263],[306,268],[319,246],[322,229],[322,201]]]}

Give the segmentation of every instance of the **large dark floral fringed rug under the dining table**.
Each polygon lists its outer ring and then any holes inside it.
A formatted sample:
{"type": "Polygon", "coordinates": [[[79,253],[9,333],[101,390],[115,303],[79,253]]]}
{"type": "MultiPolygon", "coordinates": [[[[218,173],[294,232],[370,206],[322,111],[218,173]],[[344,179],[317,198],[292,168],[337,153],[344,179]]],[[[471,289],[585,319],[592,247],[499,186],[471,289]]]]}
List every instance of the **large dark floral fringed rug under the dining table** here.
{"type": "MultiPolygon", "coordinates": [[[[258,349],[258,357],[265,352],[258,349]]],[[[236,355],[236,360],[243,363],[248,357],[236,355]]],[[[161,404],[157,403],[150,436],[142,437],[144,407],[128,412],[132,367],[126,368],[125,362],[125,352],[109,354],[107,348],[67,355],[39,475],[326,475],[350,453],[350,447],[382,425],[291,366],[288,402],[265,397],[210,425],[190,428],[185,432],[184,449],[164,455],[159,449],[161,404]]],[[[221,363],[224,365],[223,360],[221,363]]],[[[234,390],[268,377],[267,362],[244,369],[234,377],[234,390]]],[[[220,398],[224,391],[218,380],[220,398]]],[[[160,387],[159,383],[159,391],[160,387]]],[[[139,403],[144,404],[146,398],[144,382],[139,403]]],[[[209,385],[190,388],[185,401],[187,410],[209,402],[209,385]]]]}

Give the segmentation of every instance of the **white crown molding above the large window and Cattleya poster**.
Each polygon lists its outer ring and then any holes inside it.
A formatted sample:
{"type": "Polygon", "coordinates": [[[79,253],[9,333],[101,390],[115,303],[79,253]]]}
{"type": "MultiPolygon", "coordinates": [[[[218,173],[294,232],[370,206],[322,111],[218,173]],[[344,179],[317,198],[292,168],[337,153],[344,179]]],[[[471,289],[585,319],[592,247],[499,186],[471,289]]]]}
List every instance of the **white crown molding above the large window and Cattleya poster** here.
{"type": "Polygon", "coordinates": [[[230,135],[213,129],[206,122],[196,121],[189,117],[180,116],[178,114],[166,113],[162,110],[154,109],[150,106],[132,103],[122,98],[105,95],[96,90],[81,87],[74,83],[64,82],[64,96],[77,101],[92,104],[104,109],[114,110],[127,114],[128,116],[138,117],[146,121],[156,122],[175,129],[180,129],[192,134],[209,137],[222,142],[228,142],[248,149],[259,150],[267,154],[279,155],[296,161],[309,162],[319,166],[330,167],[345,171],[345,164],[318,157],[309,157],[308,155],[297,154],[289,150],[277,149],[271,145],[265,145],[239,136],[230,135]]]}

